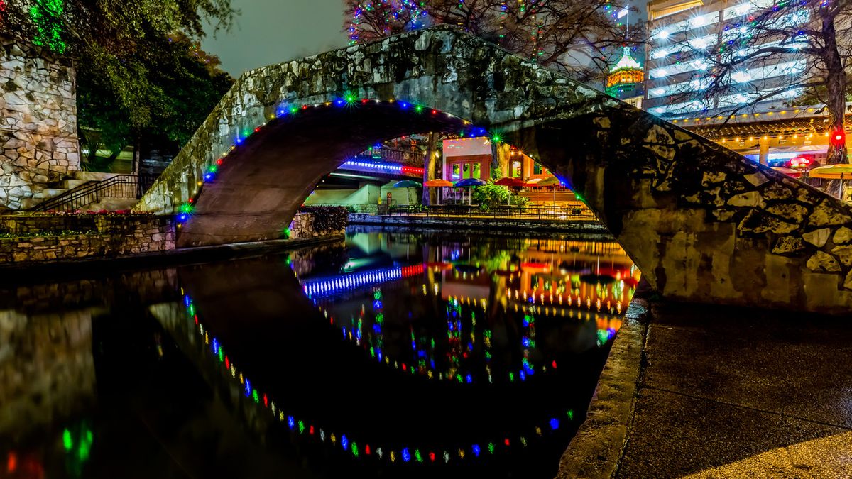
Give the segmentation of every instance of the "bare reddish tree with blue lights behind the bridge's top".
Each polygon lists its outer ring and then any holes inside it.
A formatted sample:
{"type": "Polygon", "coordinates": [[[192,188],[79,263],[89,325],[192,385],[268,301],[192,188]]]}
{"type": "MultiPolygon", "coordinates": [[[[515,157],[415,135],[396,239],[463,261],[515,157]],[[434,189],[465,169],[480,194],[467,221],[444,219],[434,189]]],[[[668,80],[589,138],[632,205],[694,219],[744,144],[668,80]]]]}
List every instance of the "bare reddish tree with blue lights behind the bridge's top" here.
{"type": "Polygon", "coordinates": [[[613,47],[641,38],[613,17],[609,0],[346,0],[351,43],[422,26],[458,25],[542,66],[589,79],[607,71],[613,47]]]}

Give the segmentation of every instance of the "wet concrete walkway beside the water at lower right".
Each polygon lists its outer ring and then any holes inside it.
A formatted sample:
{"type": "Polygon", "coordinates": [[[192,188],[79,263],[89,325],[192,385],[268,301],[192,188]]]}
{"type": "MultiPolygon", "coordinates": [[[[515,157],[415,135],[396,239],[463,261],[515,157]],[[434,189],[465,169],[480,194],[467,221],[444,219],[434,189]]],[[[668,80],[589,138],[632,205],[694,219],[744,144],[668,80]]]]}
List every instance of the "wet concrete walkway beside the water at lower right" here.
{"type": "Polygon", "coordinates": [[[639,303],[560,477],[852,477],[852,313],[639,303]]]}

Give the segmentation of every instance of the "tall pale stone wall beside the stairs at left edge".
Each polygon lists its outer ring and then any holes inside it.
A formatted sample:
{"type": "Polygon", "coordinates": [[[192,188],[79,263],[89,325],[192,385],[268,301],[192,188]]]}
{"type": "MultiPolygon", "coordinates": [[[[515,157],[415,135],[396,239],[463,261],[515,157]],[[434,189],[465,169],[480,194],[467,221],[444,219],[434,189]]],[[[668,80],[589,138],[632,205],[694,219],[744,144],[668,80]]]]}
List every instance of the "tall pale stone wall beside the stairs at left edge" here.
{"type": "Polygon", "coordinates": [[[26,209],[78,170],[74,66],[0,37],[0,211],[26,209]]]}

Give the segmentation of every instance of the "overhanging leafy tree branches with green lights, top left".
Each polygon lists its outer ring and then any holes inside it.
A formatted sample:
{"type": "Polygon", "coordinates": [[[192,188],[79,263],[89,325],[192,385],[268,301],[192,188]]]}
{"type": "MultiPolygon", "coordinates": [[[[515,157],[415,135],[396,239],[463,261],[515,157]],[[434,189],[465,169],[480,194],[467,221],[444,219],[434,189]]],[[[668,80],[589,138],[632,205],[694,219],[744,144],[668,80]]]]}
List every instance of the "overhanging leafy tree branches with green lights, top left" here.
{"type": "Polygon", "coordinates": [[[230,0],[15,0],[0,9],[0,32],[23,38],[103,76],[137,128],[153,124],[161,87],[149,74],[150,50],[182,32],[204,37],[204,22],[229,28],[230,0]]]}

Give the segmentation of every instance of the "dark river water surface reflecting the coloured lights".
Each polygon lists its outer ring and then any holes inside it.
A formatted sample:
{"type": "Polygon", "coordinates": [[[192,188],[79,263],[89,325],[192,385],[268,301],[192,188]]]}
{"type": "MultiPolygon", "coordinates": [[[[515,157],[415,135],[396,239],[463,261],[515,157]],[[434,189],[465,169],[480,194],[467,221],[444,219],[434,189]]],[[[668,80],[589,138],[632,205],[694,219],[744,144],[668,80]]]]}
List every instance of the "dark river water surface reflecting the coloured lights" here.
{"type": "Polygon", "coordinates": [[[638,279],[609,241],[374,230],[8,287],[0,477],[552,477],[638,279]]]}

